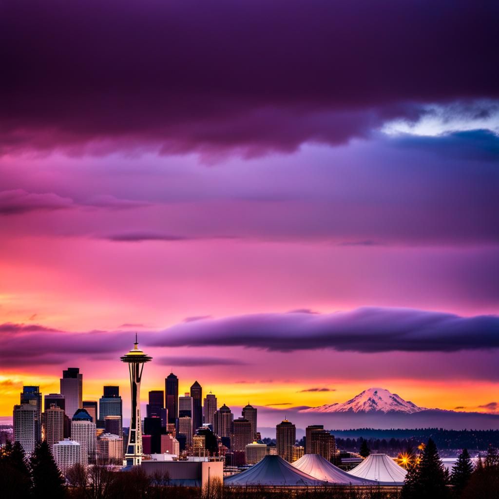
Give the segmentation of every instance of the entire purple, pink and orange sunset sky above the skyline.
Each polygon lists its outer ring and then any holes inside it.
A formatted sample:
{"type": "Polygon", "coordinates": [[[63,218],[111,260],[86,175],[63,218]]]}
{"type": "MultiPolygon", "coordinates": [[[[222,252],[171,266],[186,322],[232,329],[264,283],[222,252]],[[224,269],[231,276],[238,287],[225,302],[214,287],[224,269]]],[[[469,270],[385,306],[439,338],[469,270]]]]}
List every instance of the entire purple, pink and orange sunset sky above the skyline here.
{"type": "Polygon", "coordinates": [[[498,412],[497,2],[4,1],[0,416],[173,371],[498,412]]]}

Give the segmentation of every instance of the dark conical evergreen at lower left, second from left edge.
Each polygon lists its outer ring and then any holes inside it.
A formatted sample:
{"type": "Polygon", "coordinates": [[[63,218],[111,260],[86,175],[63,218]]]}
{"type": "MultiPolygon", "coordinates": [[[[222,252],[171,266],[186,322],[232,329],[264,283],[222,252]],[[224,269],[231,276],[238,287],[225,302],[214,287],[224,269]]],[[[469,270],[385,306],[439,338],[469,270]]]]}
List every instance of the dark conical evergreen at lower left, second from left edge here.
{"type": "Polygon", "coordinates": [[[41,442],[36,446],[30,465],[35,498],[62,499],[66,497],[65,480],[46,442],[41,442]]]}

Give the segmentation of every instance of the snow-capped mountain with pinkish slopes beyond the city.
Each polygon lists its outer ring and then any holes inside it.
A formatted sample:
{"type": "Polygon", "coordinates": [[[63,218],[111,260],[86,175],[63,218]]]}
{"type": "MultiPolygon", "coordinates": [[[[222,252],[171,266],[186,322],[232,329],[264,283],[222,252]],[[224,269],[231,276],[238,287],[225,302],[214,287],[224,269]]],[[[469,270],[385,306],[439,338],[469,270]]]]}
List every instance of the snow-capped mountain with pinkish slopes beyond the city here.
{"type": "Polygon", "coordinates": [[[384,388],[369,388],[359,393],[353,399],[342,404],[326,404],[319,407],[311,407],[300,412],[354,412],[354,413],[405,413],[426,411],[425,407],[402,399],[395,393],[384,388]]]}

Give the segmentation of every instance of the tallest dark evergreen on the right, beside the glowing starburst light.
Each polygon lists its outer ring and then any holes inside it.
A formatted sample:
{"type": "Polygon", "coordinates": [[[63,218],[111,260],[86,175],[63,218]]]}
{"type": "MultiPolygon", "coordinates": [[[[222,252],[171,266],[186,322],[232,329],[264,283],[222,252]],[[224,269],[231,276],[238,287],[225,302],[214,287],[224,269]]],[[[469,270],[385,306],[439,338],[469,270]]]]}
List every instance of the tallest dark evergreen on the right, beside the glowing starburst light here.
{"type": "Polygon", "coordinates": [[[408,470],[402,498],[445,499],[449,497],[446,484],[444,465],[440,461],[435,442],[430,439],[419,464],[408,470]]]}

